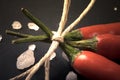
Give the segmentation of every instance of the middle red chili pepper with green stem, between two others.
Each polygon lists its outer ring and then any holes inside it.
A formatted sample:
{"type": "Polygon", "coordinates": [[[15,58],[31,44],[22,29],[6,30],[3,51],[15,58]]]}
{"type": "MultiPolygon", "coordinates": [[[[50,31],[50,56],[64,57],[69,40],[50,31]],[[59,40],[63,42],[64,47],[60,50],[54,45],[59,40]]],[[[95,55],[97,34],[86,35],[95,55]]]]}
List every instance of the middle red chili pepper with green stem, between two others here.
{"type": "Polygon", "coordinates": [[[120,35],[103,34],[92,39],[70,41],[74,47],[91,49],[112,60],[120,60],[120,35]]]}

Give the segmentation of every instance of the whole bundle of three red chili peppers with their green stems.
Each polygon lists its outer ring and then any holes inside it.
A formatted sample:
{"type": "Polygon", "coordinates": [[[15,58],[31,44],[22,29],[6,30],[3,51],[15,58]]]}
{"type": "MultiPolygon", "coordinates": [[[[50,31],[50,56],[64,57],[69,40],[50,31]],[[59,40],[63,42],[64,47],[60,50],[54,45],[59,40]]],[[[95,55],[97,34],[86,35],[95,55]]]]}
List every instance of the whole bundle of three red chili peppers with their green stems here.
{"type": "MultiPolygon", "coordinates": [[[[50,43],[53,33],[28,10],[22,12],[46,34],[30,35],[6,30],[6,33],[22,38],[12,43],[43,41],[50,43]]],[[[60,42],[76,72],[93,80],[120,80],[120,22],[86,26],[69,32],[60,42]],[[112,61],[113,60],[113,61],[112,61]]]]}

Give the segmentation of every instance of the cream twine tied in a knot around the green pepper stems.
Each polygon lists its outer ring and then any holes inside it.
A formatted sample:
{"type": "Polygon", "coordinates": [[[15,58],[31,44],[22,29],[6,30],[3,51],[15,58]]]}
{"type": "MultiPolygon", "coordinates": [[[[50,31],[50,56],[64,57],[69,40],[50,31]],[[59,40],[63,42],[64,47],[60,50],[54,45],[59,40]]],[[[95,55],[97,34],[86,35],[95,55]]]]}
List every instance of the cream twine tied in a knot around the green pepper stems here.
{"type": "MultiPolygon", "coordinates": [[[[68,7],[64,7],[63,8],[63,14],[62,14],[62,17],[61,17],[61,21],[60,21],[60,24],[59,24],[59,28],[58,28],[58,31],[57,31],[57,35],[54,35],[52,37],[52,43],[51,43],[51,46],[50,48],[48,49],[47,53],[39,60],[38,63],[36,63],[32,68],[30,68],[29,70],[27,70],[26,72],[10,79],[10,80],[16,80],[20,77],[23,77],[23,76],[26,76],[26,80],[30,80],[32,78],[32,76],[35,74],[35,72],[40,68],[40,66],[46,61],[48,60],[48,58],[52,55],[52,53],[57,49],[58,45],[59,45],[59,41],[56,40],[56,37],[63,37],[64,39],[64,36],[66,33],[68,33],[70,30],[73,29],[73,27],[75,25],[77,25],[81,19],[87,14],[87,12],[91,9],[91,7],[93,6],[95,0],[91,0],[89,5],[87,6],[87,8],[82,12],[82,14],[70,25],[68,26],[64,31],[64,26],[66,24],[66,21],[67,21],[67,15],[68,15],[68,10],[69,10],[69,6],[70,6],[70,0],[64,0],[64,5],[67,5],[68,7]],[[65,11],[65,12],[64,12],[65,11]],[[56,37],[55,37],[56,36],[56,37]]],[[[51,32],[50,32],[51,33],[51,32]]],[[[47,33],[48,35],[50,35],[49,33],[47,33]]],[[[49,78],[47,78],[49,79],[49,78]]]]}

